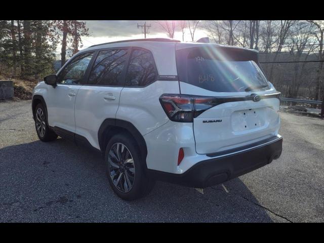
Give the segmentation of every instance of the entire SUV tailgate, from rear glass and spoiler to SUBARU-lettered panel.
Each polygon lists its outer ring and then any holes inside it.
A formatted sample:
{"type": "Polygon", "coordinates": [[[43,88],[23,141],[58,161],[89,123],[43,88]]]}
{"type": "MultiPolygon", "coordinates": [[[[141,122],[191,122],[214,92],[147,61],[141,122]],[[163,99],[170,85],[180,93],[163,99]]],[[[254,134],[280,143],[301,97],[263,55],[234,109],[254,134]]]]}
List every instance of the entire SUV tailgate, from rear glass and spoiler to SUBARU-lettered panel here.
{"type": "Polygon", "coordinates": [[[211,108],[193,119],[197,153],[229,150],[277,134],[279,93],[261,71],[256,52],[179,45],[176,57],[181,94],[215,98],[211,108]]]}

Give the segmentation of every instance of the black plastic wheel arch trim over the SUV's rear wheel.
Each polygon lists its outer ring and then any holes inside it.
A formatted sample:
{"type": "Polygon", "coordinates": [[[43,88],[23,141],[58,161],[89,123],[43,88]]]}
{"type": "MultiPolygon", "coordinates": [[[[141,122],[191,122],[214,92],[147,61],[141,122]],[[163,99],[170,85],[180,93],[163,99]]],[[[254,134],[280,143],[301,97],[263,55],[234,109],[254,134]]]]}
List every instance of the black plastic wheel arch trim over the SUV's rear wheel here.
{"type": "MultiPolygon", "coordinates": [[[[104,152],[110,138],[120,132],[127,132],[135,139],[140,149],[140,155],[143,161],[146,161],[147,147],[144,137],[132,123],[126,120],[107,118],[103,121],[98,131],[100,150],[104,152]]],[[[147,168],[146,163],[145,168],[147,168]]]]}

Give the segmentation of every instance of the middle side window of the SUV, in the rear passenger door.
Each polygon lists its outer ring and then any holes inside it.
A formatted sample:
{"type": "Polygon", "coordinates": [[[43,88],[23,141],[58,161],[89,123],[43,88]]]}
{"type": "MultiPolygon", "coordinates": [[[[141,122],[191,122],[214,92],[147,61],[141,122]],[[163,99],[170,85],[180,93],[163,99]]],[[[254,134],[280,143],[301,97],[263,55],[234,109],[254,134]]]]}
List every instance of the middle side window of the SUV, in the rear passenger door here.
{"type": "Polygon", "coordinates": [[[124,86],[127,49],[100,51],[89,76],[90,85],[124,86]]]}

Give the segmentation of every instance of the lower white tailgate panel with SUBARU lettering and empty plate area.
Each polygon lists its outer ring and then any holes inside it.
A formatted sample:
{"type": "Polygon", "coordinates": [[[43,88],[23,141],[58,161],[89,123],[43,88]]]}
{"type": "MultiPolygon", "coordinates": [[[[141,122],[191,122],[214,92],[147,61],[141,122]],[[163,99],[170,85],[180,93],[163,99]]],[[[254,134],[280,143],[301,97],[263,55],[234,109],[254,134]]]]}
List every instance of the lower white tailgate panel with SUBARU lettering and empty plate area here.
{"type": "Polygon", "coordinates": [[[210,108],[193,119],[196,152],[205,154],[248,145],[277,134],[279,100],[238,101],[210,108]]]}

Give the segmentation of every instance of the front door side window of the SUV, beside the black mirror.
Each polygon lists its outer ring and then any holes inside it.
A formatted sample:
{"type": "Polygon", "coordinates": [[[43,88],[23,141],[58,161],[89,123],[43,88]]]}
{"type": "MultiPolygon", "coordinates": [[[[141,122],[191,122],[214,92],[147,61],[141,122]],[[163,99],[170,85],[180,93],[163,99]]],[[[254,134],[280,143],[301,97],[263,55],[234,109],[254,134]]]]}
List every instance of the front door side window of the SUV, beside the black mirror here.
{"type": "Polygon", "coordinates": [[[60,73],[57,83],[80,84],[85,75],[87,67],[93,57],[93,52],[85,53],[74,58],[60,73]]]}

